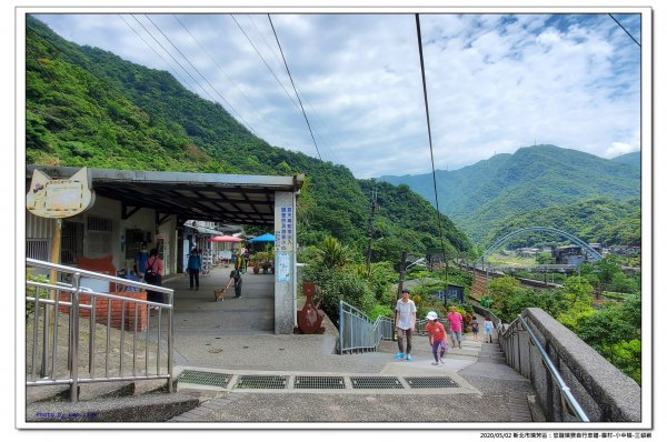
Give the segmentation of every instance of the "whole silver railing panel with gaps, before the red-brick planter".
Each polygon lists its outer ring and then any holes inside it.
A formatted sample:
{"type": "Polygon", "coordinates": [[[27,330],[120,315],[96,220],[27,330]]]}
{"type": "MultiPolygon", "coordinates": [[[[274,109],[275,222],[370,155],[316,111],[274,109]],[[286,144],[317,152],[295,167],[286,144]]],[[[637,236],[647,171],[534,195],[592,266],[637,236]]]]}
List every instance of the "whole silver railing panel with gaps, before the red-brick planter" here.
{"type": "Polygon", "coordinates": [[[46,261],[26,261],[27,269],[44,269],[59,281],[26,281],[27,311],[32,308],[26,315],[26,385],[69,384],[72,402],[79,399],[79,384],[93,382],[165,379],[169,392],[173,392],[173,290],[46,261]],[[82,278],[91,285],[99,285],[99,281],[108,282],[109,287],[116,284],[118,291],[87,289],[81,285],[82,278]],[[167,302],[135,298],[137,292],[146,290],[162,293],[167,302]],[[157,324],[152,327],[150,310],[156,311],[157,324]],[[86,322],[88,335],[80,328],[86,322]],[[161,354],[163,327],[167,334],[166,370],[160,366],[160,359],[165,356],[161,354]],[[126,352],[128,334],[131,344],[126,352]],[[101,358],[98,358],[98,335],[104,339],[103,352],[99,353],[101,358]],[[81,341],[87,341],[87,348],[80,348],[81,341]],[[141,346],[143,354],[139,354],[141,346]],[[67,352],[67,360],[63,352],[67,352]],[[145,359],[143,370],[137,366],[141,358],[145,359]],[[155,366],[149,368],[151,358],[155,366]],[[130,364],[131,368],[127,366],[130,364]],[[98,365],[100,370],[103,368],[103,373],[96,373],[98,365]]]}

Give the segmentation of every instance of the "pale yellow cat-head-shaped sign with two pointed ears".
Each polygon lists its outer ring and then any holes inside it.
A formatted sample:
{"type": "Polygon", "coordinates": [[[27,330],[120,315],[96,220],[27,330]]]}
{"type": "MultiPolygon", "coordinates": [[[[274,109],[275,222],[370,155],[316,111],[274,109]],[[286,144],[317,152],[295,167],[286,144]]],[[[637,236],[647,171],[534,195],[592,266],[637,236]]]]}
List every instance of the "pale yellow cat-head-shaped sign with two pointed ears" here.
{"type": "Polygon", "coordinates": [[[26,195],[28,210],[41,218],[69,218],[94,203],[94,192],[88,188],[88,169],[83,168],[67,180],[51,180],[34,170],[30,191],[26,195]]]}

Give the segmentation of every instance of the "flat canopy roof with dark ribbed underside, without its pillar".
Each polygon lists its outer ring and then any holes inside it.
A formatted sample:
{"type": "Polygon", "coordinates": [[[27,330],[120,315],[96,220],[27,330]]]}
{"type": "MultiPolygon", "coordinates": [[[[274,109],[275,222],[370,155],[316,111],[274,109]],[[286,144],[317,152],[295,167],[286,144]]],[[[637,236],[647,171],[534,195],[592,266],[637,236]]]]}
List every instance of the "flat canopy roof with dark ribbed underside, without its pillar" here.
{"type": "MultiPolygon", "coordinates": [[[[80,168],[27,165],[27,187],[32,170],[52,179],[69,178],[80,168]]],[[[303,175],[269,177],[223,173],[158,172],[88,169],[90,188],[101,197],[122,202],[123,218],[141,208],[186,220],[230,224],[273,224],[275,192],[298,192],[303,175]]]]}

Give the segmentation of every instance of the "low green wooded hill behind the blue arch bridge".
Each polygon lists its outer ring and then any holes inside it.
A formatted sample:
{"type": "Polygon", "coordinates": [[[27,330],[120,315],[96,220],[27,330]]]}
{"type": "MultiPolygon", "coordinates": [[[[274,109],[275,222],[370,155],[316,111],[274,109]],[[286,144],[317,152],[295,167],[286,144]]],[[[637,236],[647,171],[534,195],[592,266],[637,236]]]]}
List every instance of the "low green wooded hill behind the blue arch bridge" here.
{"type": "MultiPolygon", "coordinates": [[[[527,227],[549,227],[564,230],[588,242],[603,245],[630,244],[641,242],[641,201],[633,198],[617,201],[610,198],[596,198],[574,204],[536,209],[495,222],[484,240],[490,245],[495,240],[527,227]]],[[[568,242],[565,238],[552,241],[568,242]]],[[[550,244],[545,233],[527,233],[517,237],[508,248],[540,247],[550,244]]]]}

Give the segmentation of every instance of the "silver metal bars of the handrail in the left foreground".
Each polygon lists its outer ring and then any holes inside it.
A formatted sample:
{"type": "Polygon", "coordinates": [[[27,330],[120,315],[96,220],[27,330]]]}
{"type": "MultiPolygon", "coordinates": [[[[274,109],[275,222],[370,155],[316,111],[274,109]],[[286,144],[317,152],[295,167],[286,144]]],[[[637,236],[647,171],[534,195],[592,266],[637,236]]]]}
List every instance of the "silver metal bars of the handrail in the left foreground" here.
{"type": "MultiPolygon", "coordinates": [[[[131,281],[122,278],[111,277],[103,273],[97,273],[89,270],[82,270],[78,268],[71,268],[61,264],[53,264],[47,261],[39,261],[33,259],[26,260],[27,267],[30,268],[40,268],[49,271],[56,271],[61,274],[71,275],[72,283],[66,282],[39,282],[39,281],[26,281],[26,287],[34,289],[34,295],[31,297],[28,293],[26,294],[26,302],[34,304],[34,313],[32,318],[32,354],[31,354],[31,375],[30,379],[26,381],[27,386],[33,385],[61,385],[69,384],[70,385],[70,400],[72,402],[78,401],[79,389],[78,385],[81,383],[92,383],[92,382],[115,382],[115,381],[139,381],[139,380],[157,380],[157,379],[166,379],[168,382],[169,392],[173,392],[173,290],[151,285],[143,282],[131,281]],[[142,299],[136,299],[131,297],[122,295],[122,292],[119,293],[106,293],[99,292],[94,290],[87,289],[81,287],[81,278],[91,278],[101,281],[108,281],[117,284],[117,288],[121,288],[122,290],[128,290],[128,292],[137,289],[142,290],[151,290],[155,292],[160,292],[167,295],[167,302],[157,302],[157,301],[148,301],[142,299]],[[50,293],[48,298],[42,299],[40,294],[40,290],[43,290],[47,293],[50,293]],[[61,294],[69,297],[70,300],[61,300],[61,294]],[[80,302],[80,295],[83,294],[89,297],[90,303],[80,302]],[[106,300],[106,302],[104,302],[106,300]],[[111,328],[112,328],[112,319],[118,321],[118,311],[116,311],[116,317],[112,318],[112,305],[120,303],[120,362],[118,365],[118,375],[112,375],[110,371],[110,353],[111,349],[111,328]],[[98,308],[99,305],[107,307],[107,315],[98,319],[98,308]],[[130,307],[130,309],[128,309],[130,307]],[[67,331],[61,332],[61,328],[59,324],[59,314],[61,312],[61,308],[67,308],[69,310],[69,318],[62,319],[63,321],[68,321],[67,331]],[[138,311],[139,309],[148,309],[153,308],[157,310],[157,335],[152,336],[157,341],[157,348],[155,352],[149,350],[149,342],[151,340],[151,328],[150,328],[150,314],[146,317],[146,334],[145,334],[145,359],[146,365],[143,373],[137,372],[137,339],[138,335],[143,331],[139,331],[138,327],[138,311]],[[41,312],[43,310],[43,313],[41,312]],[[126,321],[126,311],[132,313],[133,315],[133,333],[132,333],[132,373],[127,374],[123,373],[125,364],[125,341],[126,341],[126,328],[130,329],[132,318],[128,313],[126,321]],[[163,373],[160,370],[160,342],[162,341],[162,310],[167,312],[167,373],[163,373]],[[88,334],[88,371],[86,375],[79,375],[79,342],[80,342],[80,331],[79,324],[80,319],[88,318],[89,322],[89,334],[88,334]],[[41,330],[40,330],[40,315],[43,317],[41,319],[41,330]],[[51,328],[52,321],[52,330],[51,328]],[[96,369],[96,325],[97,323],[106,323],[107,325],[107,340],[106,340],[106,350],[104,350],[104,374],[98,375],[94,372],[96,369]],[[126,323],[127,322],[127,323],[126,323]],[[67,368],[58,364],[58,338],[59,335],[63,335],[67,333],[67,368]],[[41,339],[40,339],[41,335],[41,339]],[[39,350],[41,350],[41,355],[39,355],[39,350]],[[150,356],[156,359],[156,368],[155,372],[151,370],[149,372],[148,361],[150,356]],[[38,362],[38,356],[39,362],[38,362]],[[37,375],[39,363],[39,379],[37,375]],[[50,366],[49,366],[50,365],[50,366]],[[49,370],[50,369],[50,370],[49,370]],[[60,370],[60,373],[57,372],[60,370]],[[67,374],[62,373],[67,372],[67,374]]],[[[139,290],[141,291],[141,290],[139,290]]],[[[128,333],[129,334],[129,333],[128,333]]],[[[156,334],[156,333],[153,333],[156,334]]],[[[63,364],[64,362],[62,362],[63,364]]]]}

